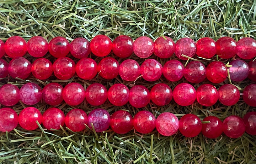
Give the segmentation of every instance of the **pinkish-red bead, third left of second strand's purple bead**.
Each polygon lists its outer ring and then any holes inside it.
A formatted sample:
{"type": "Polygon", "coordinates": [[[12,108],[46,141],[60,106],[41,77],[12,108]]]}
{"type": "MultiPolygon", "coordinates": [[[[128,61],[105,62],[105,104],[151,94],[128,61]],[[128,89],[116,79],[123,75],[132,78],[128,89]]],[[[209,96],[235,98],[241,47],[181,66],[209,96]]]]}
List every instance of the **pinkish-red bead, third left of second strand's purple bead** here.
{"type": "Polygon", "coordinates": [[[164,64],[163,75],[169,81],[179,81],[184,75],[184,66],[178,60],[169,60],[164,64]]]}

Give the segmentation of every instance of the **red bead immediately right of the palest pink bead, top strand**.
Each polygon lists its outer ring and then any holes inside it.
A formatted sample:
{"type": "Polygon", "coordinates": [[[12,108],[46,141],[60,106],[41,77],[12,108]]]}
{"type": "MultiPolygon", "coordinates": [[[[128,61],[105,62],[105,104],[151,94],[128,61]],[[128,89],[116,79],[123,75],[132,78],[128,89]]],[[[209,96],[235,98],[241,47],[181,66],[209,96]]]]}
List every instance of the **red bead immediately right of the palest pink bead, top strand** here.
{"type": "Polygon", "coordinates": [[[154,54],[159,58],[170,58],[175,52],[174,41],[167,36],[165,36],[165,39],[159,37],[154,42],[154,54]]]}

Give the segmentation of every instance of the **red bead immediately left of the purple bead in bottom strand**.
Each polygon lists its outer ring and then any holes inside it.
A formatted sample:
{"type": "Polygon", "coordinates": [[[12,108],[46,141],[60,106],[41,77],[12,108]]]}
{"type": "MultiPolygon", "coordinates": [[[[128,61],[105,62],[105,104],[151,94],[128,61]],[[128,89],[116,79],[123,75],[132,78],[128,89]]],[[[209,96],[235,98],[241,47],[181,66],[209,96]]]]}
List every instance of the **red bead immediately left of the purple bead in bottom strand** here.
{"type": "Polygon", "coordinates": [[[81,109],[72,109],[65,117],[66,127],[74,132],[82,131],[88,124],[88,117],[81,109]]]}

